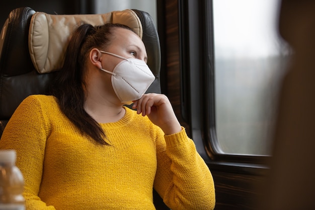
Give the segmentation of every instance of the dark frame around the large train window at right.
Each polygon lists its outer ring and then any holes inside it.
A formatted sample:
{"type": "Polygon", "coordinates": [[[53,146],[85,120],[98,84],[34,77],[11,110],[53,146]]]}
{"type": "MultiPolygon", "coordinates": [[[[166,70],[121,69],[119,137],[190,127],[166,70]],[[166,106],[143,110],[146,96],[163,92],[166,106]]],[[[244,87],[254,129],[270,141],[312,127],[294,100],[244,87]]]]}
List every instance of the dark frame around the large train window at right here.
{"type": "Polygon", "coordinates": [[[212,167],[243,172],[246,168],[255,174],[266,169],[270,156],[226,154],[217,142],[212,0],[179,0],[179,33],[181,114],[190,125],[197,151],[212,167]]]}

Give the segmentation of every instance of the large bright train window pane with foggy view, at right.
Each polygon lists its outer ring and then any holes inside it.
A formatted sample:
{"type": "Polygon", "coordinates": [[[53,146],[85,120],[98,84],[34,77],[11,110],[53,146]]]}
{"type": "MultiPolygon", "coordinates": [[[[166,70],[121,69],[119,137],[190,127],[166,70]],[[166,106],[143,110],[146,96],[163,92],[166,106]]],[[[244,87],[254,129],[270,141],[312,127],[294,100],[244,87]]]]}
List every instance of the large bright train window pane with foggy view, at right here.
{"type": "Polygon", "coordinates": [[[213,0],[215,128],[225,154],[269,155],[287,53],[279,1],[213,0]]]}

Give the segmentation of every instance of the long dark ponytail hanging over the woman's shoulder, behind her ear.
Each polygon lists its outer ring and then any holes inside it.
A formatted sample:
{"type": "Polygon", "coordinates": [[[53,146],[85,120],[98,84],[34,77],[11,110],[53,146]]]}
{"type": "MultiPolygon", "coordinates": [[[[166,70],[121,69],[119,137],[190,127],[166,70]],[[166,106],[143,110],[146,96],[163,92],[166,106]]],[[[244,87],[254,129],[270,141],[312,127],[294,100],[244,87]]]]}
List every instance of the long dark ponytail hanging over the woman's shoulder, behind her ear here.
{"type": "Polygon", "coordinates": [[[59,71],[52,95],[58,99],[61,111],[81,131],[95,139],[101,145],[108,145],[104,141],[105,133],[99,124],[85,111],[84,71],[86,65],[82,46],[87,37],[95,33],[95,28],[90,24],[84,24],[75,30],[64,56],[64,64],[59,71]]]}

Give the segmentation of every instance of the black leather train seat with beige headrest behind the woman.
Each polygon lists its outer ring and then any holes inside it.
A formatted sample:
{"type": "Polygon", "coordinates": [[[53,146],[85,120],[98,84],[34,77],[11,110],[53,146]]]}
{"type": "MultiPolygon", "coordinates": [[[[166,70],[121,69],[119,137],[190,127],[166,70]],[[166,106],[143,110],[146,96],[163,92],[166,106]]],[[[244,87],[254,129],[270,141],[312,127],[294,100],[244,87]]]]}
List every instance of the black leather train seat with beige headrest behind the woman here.
{"type": "MultiPolygon", "coordinates": [[[[121,23],[142,37],[147,64],[155,81],[147,92],[161,93],[160,41],[151,16],[139,10],[93,15],[49,15],[29,7],[11,11],[0,40],[0,137],[15,109],[29,95],[47,94],[74,27],[83,22],[101,25],[121,23]]],[[[153,191],[156,209],[169,209],[153,191]]]]}

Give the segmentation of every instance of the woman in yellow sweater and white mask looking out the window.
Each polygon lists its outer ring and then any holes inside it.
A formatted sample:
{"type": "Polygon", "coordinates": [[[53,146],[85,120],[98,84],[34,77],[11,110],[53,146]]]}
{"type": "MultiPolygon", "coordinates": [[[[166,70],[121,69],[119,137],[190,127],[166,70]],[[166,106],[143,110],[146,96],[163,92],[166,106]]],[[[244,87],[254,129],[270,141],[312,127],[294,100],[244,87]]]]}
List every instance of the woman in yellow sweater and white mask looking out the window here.
{"type": "Polygon", "coordinates": [[[0,141],[17,151],[26,209],[155,209],[153,187],[173,210],[214,208],[211,173],[168,98],[142,95],[146,59],[126,26],[78,27],[52,95],[26,98],[0,141]]]}

